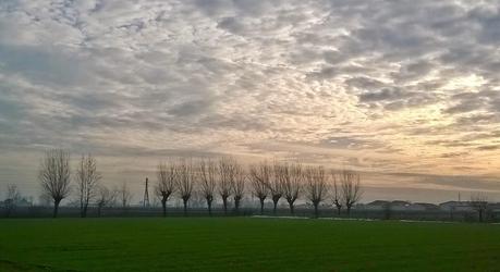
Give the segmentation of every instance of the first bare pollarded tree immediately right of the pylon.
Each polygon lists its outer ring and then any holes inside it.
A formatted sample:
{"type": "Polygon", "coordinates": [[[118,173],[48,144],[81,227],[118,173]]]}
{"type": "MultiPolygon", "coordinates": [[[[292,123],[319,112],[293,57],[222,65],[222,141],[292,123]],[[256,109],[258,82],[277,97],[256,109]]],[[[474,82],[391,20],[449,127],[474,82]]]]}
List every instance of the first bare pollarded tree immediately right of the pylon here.
{"type": "Polygon", "coordinates": [[[161,198],[163,217],[167,217],[167,201],[176,189],[178,171],[173,162],[159,163],[157,169],[157,195],[161,198]]]}

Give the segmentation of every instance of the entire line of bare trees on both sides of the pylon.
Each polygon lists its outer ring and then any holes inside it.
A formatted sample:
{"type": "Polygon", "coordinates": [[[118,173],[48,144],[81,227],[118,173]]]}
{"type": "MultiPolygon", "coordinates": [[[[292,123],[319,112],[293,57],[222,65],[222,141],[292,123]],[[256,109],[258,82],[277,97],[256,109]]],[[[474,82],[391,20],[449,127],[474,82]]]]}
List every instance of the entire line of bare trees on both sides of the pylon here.
{"type": "MultiPolygon", "coordinates": [[[[70,195],[71,177],[70,153],[60,149],[47,151],[40,163],[39,180],[44,194],[53,200],[53,217],[58,215],[60,202],[70,195]]],[[[96,159],[90,154],[81,157],[73,180],[83,218],[87,215],[92,203],[97,206],[100,214],[103,207],[117,199],[123,207],[131,201],[132,195],[126,184],[114,190],[100,184],[101,174],[97,171],[96,159]]],[[[156,193],[163,215],[167,215],[168,200],[174,195],[182,199],[186,213],[195,191],[205,198],[209,214],[218,198],[222,201],[224,213],[228,213],[231,198],[234,210],[239,212],[244,195],[249,193],[259,199],[261,213],[266,199],[272,200],[276,213],[278,202],[283,198],[294,214],[295,201],[303,198],[313,203],[316,217],[319,205],[330,196],[339,212],[345,206],[350,213],[362,195],[358,174],[351,171],[327,173],[322,166],[263,161],[245,169],[233,158],[178,159],[158,164],[156,193]]]]}

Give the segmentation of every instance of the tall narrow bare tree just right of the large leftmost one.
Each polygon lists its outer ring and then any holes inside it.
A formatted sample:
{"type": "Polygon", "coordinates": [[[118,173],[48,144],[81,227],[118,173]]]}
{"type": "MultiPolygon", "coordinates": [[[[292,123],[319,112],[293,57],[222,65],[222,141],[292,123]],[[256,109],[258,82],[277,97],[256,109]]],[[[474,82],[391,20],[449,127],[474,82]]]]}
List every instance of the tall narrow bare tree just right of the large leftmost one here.
{"type": "Polygon", "coordinates": [[[88,203],[96,197],[101,175],[97,172],[97,161],[92,154],[82,156],[76,171],[76,186],[80,199],[80,215],[87,217],[88,203]]]}

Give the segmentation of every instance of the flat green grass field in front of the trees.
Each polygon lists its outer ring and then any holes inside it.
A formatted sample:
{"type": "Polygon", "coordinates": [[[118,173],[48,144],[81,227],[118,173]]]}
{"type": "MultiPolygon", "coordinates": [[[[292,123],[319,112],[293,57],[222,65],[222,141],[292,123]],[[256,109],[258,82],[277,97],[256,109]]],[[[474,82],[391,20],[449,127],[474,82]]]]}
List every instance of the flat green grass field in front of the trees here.
{"type": "Polygon", "coordinates": [[[0,271],[500,271],[500,225],[0,220],[0,271]]]}

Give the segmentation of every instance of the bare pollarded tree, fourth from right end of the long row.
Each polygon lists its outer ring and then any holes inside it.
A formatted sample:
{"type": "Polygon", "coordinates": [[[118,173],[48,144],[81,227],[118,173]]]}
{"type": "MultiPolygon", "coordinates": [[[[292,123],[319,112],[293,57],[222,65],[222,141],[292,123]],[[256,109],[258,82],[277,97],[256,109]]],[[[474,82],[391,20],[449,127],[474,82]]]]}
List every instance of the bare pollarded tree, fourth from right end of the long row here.
{"type": "Polygon", "coordinates": [[[283,184],[283,197],[286,199],[286,202],[290,207],[290,213],[292,215],[294,212],[295,200],[298,199],[298,194],[301,194],[302,184],[304,180],[304,173],[302,171],[302,165],[296,164],[281,164],[278,166],[278,176],[283,184]]]}

